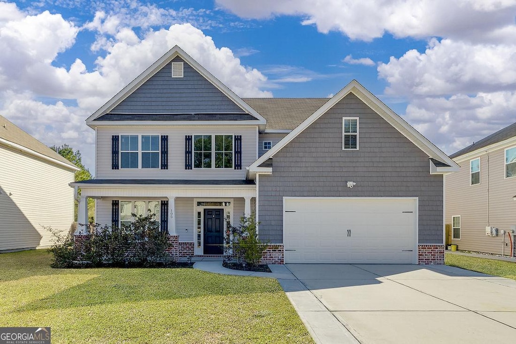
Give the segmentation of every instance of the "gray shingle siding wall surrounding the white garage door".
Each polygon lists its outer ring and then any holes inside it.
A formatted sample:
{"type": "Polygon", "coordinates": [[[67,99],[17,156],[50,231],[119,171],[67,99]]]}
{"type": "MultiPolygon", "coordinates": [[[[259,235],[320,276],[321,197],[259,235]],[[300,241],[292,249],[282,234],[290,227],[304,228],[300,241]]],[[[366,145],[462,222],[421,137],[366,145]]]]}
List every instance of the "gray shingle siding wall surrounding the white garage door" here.
{"type": "Polygon", "coordinates": [[[418,197],[418,242],[443,241],[443,179],[428,155],[352,93],[276,153],[259,176],[260,237],[282,242],[283,197],[418,197]],[[342,117],[359,117],[359,150],[342,150],[342,117]],[[353,189],[347,181],[357,183],[353,189]]]}

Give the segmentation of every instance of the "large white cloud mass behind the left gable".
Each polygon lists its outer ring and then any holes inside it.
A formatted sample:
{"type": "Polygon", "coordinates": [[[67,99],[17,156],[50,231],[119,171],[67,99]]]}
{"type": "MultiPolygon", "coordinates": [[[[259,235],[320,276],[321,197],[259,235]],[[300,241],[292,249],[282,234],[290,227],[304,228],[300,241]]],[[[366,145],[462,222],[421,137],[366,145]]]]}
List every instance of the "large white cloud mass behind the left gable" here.
{"type": "Polygon", "coordinates": [[[271,96],[262,90],[267,78],[260,71],[241,65],[200,29],[174,24],[140,38],[117,18],[123,17],[97,13],[88,24],[98,34],[95,44],[105,49],[97,51],[94,70],[78,58],[69,68],[56,67],[57,55],[74,46],[79,28],[60,14],[28,15],[0,2],[0,113],[47,145],[80,149],[93,171],[93,131],[85,119],[175,44],[239,96],[271,96]]]}

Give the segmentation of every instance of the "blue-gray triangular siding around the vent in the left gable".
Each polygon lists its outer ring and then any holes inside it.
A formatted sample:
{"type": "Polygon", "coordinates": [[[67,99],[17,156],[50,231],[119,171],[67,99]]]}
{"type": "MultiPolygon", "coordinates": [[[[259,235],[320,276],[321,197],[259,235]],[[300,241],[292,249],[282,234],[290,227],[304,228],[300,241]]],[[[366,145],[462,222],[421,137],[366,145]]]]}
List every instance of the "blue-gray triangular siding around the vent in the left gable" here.
{"type": "Polygon", "coordinates": [[[172,77],[169,63],[111,110],[111,113],[244,112],[183,59],[176,57],[172,61],[184,62],[184,77],[172,77]]]}

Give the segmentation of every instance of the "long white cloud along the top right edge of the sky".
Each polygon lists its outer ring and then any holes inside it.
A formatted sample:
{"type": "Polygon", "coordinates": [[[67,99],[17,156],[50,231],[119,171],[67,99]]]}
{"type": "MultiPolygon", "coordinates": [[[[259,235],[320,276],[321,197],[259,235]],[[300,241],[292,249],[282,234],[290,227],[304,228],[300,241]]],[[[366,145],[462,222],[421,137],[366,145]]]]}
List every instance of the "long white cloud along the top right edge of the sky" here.
{"type": "MultiPolygon", "coordinates": [[[[351,39],[370,41],[385,32],[395,37],[467,37],[514,24],[516,1],[495,0],[216,0],[243,18],[276,15],[302,17],[321,33],[342,32],[351,39]]],[[[504,39],[511,37],[504,36],[504,39]]]]}

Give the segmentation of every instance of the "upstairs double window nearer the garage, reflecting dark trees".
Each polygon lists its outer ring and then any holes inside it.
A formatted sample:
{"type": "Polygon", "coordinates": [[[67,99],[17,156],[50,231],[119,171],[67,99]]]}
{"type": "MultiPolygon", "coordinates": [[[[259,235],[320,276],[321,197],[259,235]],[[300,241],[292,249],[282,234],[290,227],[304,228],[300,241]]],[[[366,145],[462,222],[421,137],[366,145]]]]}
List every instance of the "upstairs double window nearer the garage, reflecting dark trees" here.
{"type": "Polygon", "coordinates": [[[233,135],[193,135],[193,168],[233,168],[233,135]]]}

